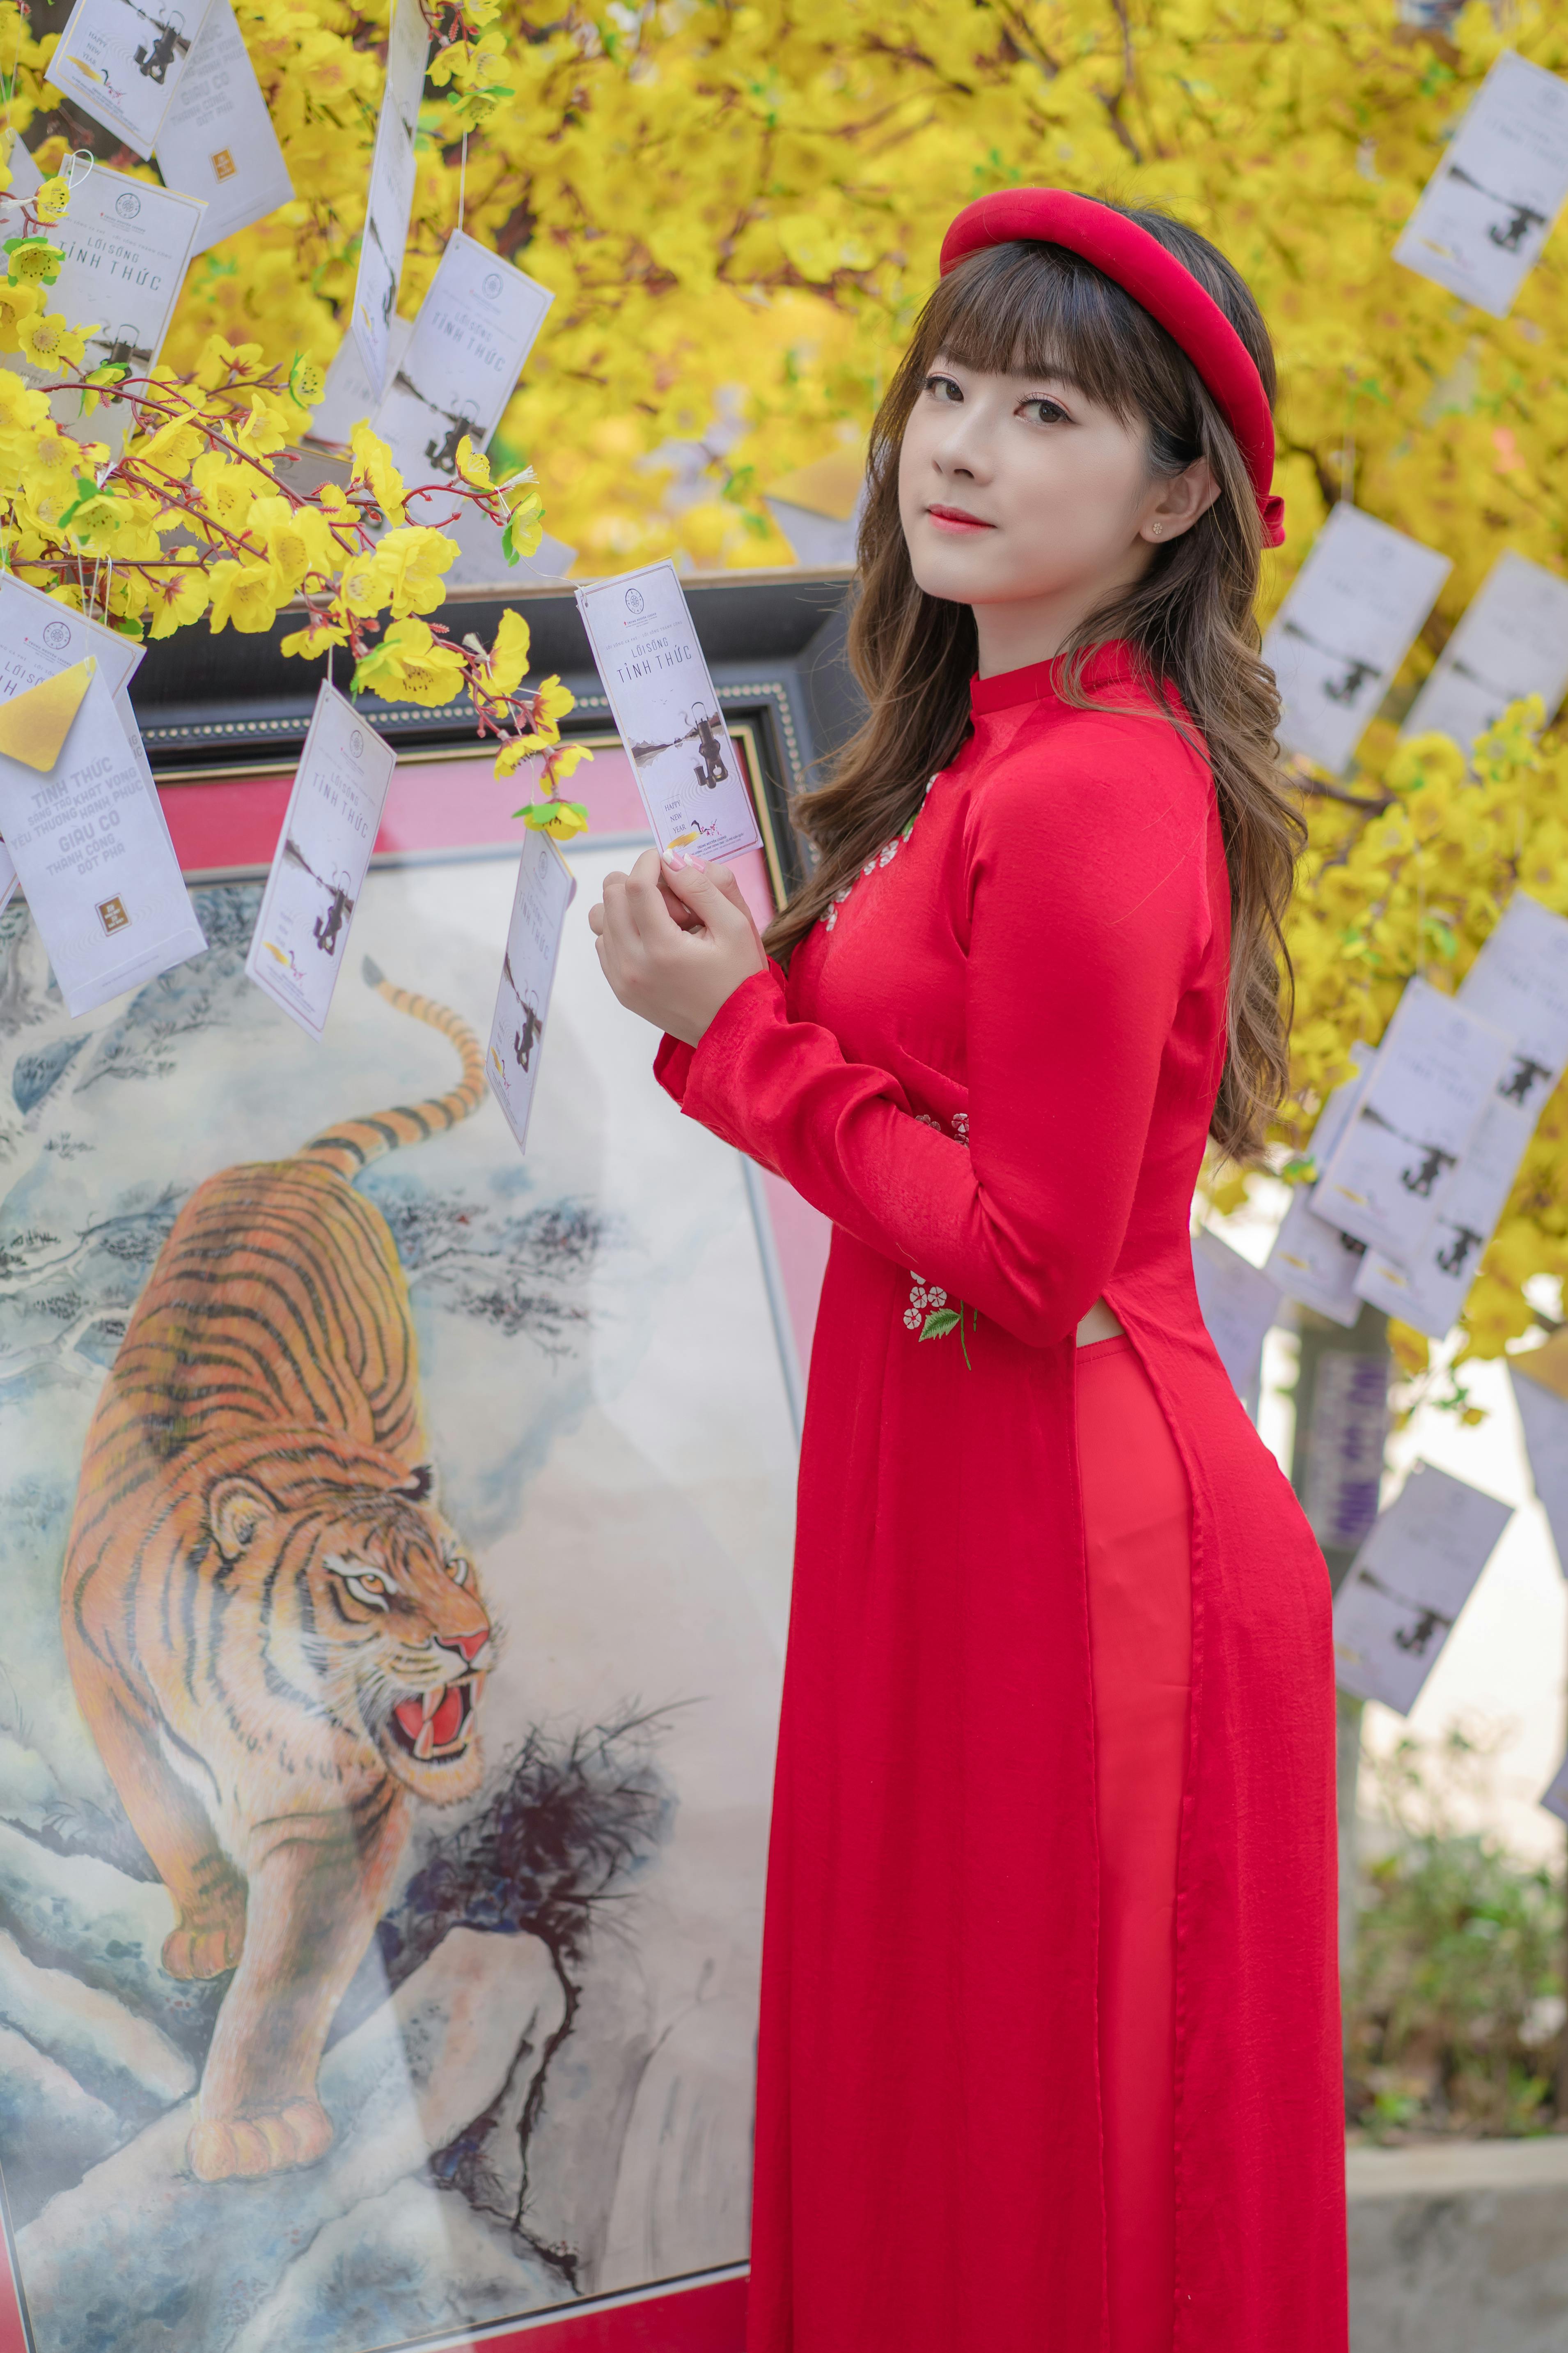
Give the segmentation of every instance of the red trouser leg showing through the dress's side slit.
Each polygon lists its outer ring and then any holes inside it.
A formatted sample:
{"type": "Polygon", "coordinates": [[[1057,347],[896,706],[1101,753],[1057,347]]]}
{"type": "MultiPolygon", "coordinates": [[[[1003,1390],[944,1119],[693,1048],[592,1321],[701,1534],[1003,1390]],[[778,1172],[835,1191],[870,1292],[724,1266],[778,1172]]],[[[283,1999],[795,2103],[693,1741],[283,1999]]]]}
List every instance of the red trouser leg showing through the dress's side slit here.
{"type": "Polygon", "coordinates": [[[1110,2353],[1171,2353],[1192,1499],[1131,1339],[1077,1351],[1100,1826],[1110,2353]]]}

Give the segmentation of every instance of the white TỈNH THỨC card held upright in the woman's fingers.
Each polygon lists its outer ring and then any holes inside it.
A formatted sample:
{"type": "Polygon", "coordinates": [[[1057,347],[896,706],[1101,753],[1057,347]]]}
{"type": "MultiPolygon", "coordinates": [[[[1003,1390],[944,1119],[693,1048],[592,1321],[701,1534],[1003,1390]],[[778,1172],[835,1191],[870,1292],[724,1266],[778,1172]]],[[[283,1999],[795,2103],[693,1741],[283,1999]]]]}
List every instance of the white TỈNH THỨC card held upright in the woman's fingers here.
{"type": "Polygon", "coordinates": [[[661,849],[733,859],[757,816],[675,565],[578,588],[595,668],[661,849]]]}

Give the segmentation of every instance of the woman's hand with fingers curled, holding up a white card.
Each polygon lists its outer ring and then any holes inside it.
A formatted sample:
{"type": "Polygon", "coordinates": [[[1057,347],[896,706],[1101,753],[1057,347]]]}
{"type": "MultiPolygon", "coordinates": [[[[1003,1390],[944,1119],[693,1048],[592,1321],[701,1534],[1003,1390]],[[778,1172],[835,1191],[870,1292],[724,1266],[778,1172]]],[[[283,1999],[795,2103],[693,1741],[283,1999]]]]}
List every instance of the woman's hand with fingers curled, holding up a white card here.
{"type": "Polygon", "coordinates": [[[604,875],[588,927],[625,1009],[684,1045],[698,1045],[719,1005],[769,962],[729,866],[661,861],[656,849],[630,875],[604,875]]]}

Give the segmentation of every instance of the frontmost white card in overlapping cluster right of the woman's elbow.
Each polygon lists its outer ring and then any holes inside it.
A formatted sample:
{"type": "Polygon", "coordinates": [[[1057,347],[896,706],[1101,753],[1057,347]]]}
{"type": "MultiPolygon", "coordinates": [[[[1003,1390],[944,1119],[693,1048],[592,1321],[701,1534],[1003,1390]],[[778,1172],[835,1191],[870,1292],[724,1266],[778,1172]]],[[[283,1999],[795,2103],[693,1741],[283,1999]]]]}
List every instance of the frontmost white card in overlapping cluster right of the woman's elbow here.
{"type": "Polygon", "coordinates": [[[1312,1188],[1314,1214],[1413,1266],[1509,1054],[1507,1031],[1406,981],[1378,1068],[1312,1188]]]}

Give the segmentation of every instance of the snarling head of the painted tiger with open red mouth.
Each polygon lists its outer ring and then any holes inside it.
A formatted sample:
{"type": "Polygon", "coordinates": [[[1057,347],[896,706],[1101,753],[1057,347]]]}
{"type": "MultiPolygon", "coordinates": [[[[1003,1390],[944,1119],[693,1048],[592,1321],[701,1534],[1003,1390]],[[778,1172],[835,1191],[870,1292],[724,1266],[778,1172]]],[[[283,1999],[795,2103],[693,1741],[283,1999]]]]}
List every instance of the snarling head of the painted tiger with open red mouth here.
{"type": "Polygon", "coordinates": [[[223,1579],[259,1595],[259,1694],[369,1744],[418,1798],[451,1805],[482,1779],[480,1694],[496,1635],[468,1546],[433,1473],[357,1454],[355,1482],[212,1480],[205,1518],[223,1579]],[[284,1492],[280,1494],[277,1487],[284,1492]]]}

